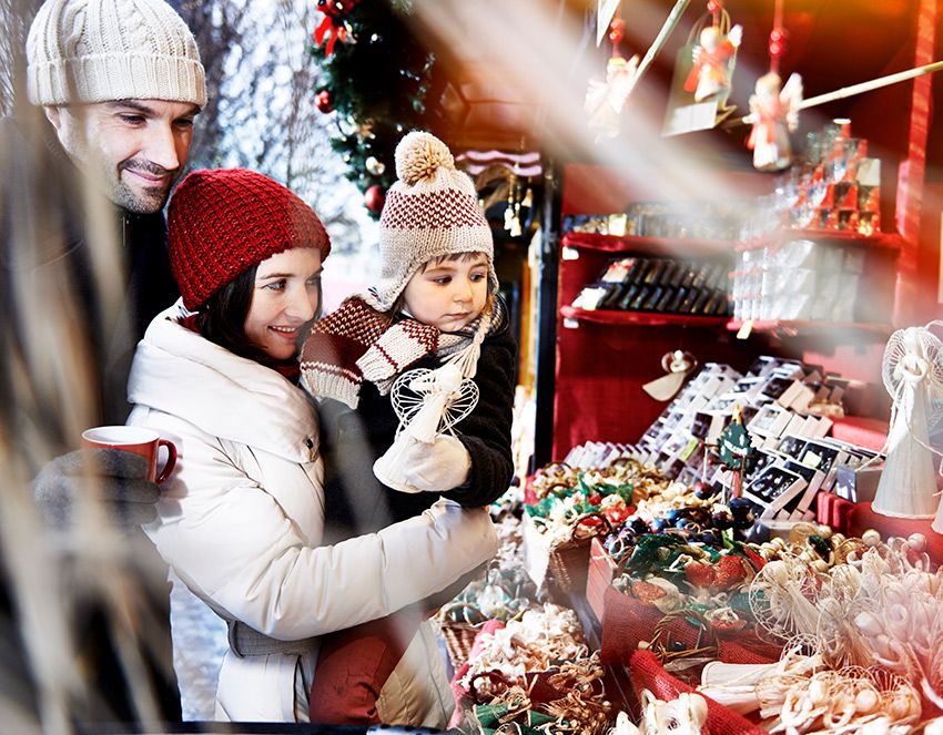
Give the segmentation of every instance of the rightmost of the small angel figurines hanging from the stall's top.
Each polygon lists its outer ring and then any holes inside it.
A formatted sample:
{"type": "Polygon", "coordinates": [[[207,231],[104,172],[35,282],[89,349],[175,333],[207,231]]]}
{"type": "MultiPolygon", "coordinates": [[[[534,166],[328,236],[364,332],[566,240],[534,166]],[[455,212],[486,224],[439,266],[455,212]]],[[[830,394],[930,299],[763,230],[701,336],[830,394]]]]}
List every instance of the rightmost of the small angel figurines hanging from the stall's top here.
{"type": "Polygon", "coordinates": [[[802,78],[790,75],[785,85],[775,72],[757,80],[756,93],[750,95],[750,114],[743,122],[753,125],[747,147],[753,151],[753,167],[758,171],[782,171],[792,164],[789,133],[799,125],[802,102],[802,78]]]}

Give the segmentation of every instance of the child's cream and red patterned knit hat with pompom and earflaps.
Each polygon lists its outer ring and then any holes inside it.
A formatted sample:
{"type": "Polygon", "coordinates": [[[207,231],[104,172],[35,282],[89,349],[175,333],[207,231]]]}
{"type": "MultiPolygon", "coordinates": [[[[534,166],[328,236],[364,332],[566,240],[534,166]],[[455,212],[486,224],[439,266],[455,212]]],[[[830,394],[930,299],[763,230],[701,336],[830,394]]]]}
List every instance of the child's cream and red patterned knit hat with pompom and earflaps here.
{"type": "Polygon", "coordinates": [[[408,133],[396,146],[396,176],[379,215],[379,282],[364,300],[388,312],[414,273],[455,253],[485,253],[489,292],[497,293],[491,228],[448,146],[429,133],[408,133]]]}

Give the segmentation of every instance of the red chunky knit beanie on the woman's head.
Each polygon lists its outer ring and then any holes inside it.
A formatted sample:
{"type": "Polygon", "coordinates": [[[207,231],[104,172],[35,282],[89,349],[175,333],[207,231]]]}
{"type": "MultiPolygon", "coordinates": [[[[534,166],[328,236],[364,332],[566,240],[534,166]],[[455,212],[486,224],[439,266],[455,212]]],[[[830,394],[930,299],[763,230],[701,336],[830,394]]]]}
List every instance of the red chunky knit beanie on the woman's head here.
{"type": "Polygon", "coordinates": [[[271,256],[331,239],[314,211],[282,184],[245,169],[194,171],[174,192],[168,244],[183,305],[195,310],[219,288],[271,256]]]}

